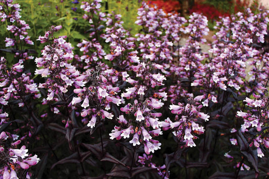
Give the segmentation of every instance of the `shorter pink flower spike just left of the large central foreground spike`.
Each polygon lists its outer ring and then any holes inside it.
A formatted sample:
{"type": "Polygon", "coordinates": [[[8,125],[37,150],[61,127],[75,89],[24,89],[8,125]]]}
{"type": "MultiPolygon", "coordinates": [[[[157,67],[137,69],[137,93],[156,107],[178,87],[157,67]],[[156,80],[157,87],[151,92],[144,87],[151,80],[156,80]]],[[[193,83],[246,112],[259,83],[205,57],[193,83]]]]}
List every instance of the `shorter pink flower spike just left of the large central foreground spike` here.
{"type": "Polygon", "coordinates": [[[97,123],[101,122],[102,118],[113,118],[114,115],[107,111],[111,109],[110,103],[121,104],[121,99],[117,95],[119,87],[113,87],[105,78],[106,68],[104,64],[99,64],[95,69],[87,70],[76,79],[85,84],[85,87],[74,89],[78,97],[73,97],[72,105],[83,101],[81,107],[84,109],[81,116],[85,117],[83,121],[87,121],[87,116],[90,116],[91,120],[87,126],[91,128],[95,127],[96,118],[97,123]]]}

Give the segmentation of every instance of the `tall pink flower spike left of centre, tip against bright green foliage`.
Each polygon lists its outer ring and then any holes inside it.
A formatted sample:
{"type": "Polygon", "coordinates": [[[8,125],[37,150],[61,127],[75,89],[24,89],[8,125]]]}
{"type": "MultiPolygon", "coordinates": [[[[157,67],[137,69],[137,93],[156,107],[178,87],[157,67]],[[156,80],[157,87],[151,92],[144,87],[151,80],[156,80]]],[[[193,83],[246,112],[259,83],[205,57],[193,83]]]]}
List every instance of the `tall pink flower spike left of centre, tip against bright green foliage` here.
{"type": "Polygon", "coordinates": [[[48,88],[46,100],[59,100],[55,94],[66,93],[72,85],[83,86],[83,82],[76,81],[79,72],[69,61],[74,57],[73,47],[66,42],[66,36],[53,37],[53,32],[60,30],[62,26],[51,26],[44,36],[39,36],[37,40],[41,43],[49,42],[42,50],[42,57],[35,58],[36,66],[40,69],[35,70],[35,74],[42,77],[49,76],[45,83],[40,83],[39,88],[48,88]],[[41,68],[42,67],[42,68],[41,68]],[[54,98],[54,99],[53,99],[54,98]]]}

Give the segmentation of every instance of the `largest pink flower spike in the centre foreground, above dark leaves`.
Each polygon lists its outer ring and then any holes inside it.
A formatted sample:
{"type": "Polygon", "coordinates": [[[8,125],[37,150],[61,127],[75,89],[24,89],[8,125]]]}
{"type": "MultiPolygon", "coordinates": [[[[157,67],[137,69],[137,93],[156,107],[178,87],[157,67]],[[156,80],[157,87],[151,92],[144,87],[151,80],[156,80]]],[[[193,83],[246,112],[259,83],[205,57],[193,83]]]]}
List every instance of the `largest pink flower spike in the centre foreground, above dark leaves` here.
{"type": "Polygon", "coordinates": [[[135,80],[128,77],[125,81],[133,85],[133,87],[127,88],[126,92],[121,94],[123,98],[132,101],[132,103],[121,107],[121,111],[129,115],[133,114],[135,118],[132,117],[127,120],[124,115],[120,115],[118,117],[120,127],[115,126],[110,136],[111,139],[117,138],[119,140],[122,137],[124,139],[130,138],[130,134],[133,134],[132,140],[129,142],[133,146],[144,145],[145,153],[149,154],[150,152],[154,153],[154,150],[159,149],[161,145],[152,138],[162,134],[157,118],[162,113],[153,112],[153,110],[164,105],[160,98],[165,98],[167,95],[162,90],[154,92],[154,87],[163,85],[166,78],[159,73],[150,73],[153,69],[157,69],[158,65],[150,65],[151,63],[146,61],[138,64],[137,66],[131,66],[131,69],[141,79],[139,80],[136,77],[137,79],[135,80]],[[150,95],[151,93],[154,93],[153,96],[150,95]]]}

